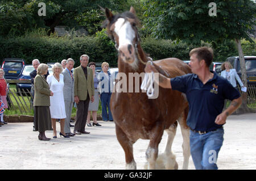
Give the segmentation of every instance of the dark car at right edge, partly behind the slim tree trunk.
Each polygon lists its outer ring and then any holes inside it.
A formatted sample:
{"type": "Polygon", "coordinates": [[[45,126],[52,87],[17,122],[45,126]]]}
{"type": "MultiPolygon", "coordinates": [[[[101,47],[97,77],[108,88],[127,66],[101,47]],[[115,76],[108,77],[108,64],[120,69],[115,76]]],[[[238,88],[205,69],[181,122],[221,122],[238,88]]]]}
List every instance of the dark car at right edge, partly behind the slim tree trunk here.
{"type": "MultiPolygon", "coordinates": [[[[228,57],[226,61],[230,62],[233,68],[237,70],[237,74],[241,78],[239,57],[228,57]]],[[[247,75],[247,84],[256,85],[256,56],[245,56],[245,70],[247,75]]]]}

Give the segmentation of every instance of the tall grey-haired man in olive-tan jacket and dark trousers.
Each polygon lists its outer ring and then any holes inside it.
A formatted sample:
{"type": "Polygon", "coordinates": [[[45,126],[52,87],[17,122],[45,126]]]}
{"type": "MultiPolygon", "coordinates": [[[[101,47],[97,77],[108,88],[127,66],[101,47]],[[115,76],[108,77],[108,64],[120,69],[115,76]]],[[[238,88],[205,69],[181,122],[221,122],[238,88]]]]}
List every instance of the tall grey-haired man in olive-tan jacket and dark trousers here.
{"type": "Polygon", "coordinates": [[[74,100],[77,105],[74,134],[89,134],[85,131],[89,101],[94,101],[93,71],[87,67],[89,56],[80,57],[81,65],[74,70],[74,100]]]}

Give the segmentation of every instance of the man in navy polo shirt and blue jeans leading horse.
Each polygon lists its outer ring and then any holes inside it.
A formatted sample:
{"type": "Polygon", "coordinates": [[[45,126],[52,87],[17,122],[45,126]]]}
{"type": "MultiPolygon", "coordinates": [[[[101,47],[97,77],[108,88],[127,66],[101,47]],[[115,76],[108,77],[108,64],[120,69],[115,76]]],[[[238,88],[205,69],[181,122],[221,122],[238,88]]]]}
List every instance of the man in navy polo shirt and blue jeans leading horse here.
{"type": "MultiPolygon", "coordinates": [[[[192,49],[189,53],[192,74],[167,78],[159,74],[160,87],[178,90],[187,95],[190,131],[190,149],[196,169],[218,169],[217,157],[223,143],[226,118],[241,105],[240,93],[224,78],[209,70],[213,50],[208,47],[192,49]],[[224,100],[232,100],[222,112],[224,100]]],[[[147,73],[158,73],[154,65],[147,64],[147,73]]]]}

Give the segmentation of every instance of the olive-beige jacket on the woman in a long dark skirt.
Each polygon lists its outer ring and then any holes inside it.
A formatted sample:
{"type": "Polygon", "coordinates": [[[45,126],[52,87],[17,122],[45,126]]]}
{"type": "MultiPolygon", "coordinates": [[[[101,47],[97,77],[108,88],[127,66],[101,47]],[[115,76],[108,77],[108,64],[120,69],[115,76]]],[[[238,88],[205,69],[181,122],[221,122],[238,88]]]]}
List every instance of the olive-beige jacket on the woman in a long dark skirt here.
{"type": "Polygon", "coordinates": [[[51,91],[49,90],[49,85],[42,75],[37,74],[34,79],[34,106],[50,106],[49,95],[51,91]]]}

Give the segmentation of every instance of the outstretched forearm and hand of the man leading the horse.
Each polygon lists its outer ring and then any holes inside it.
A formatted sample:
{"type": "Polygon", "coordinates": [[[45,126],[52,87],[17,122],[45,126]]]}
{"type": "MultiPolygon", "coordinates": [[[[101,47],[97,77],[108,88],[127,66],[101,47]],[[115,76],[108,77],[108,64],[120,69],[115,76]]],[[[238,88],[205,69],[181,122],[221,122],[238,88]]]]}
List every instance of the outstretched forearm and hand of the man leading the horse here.
{"type": "Polygon", "coordinates": [[[171,86],[171,79],[170,79],[170,78],[167,78],[166,76],[164,76],[164,75],[162,75],[162,74],[159,74],[158,70],[155,69],[155,66],[154,66],[154,65],[147,64],[147,65],[146,65],[146,68],[145,68],[144,70],[145,70],[146,73],[151,73],[152,71],[153,71],[154,73],[158,73],[159,78],[157,79],[157,78],[155,77],[155,82],[156,82],[160,87],[172,89],[172,86],[171,86]]]}

